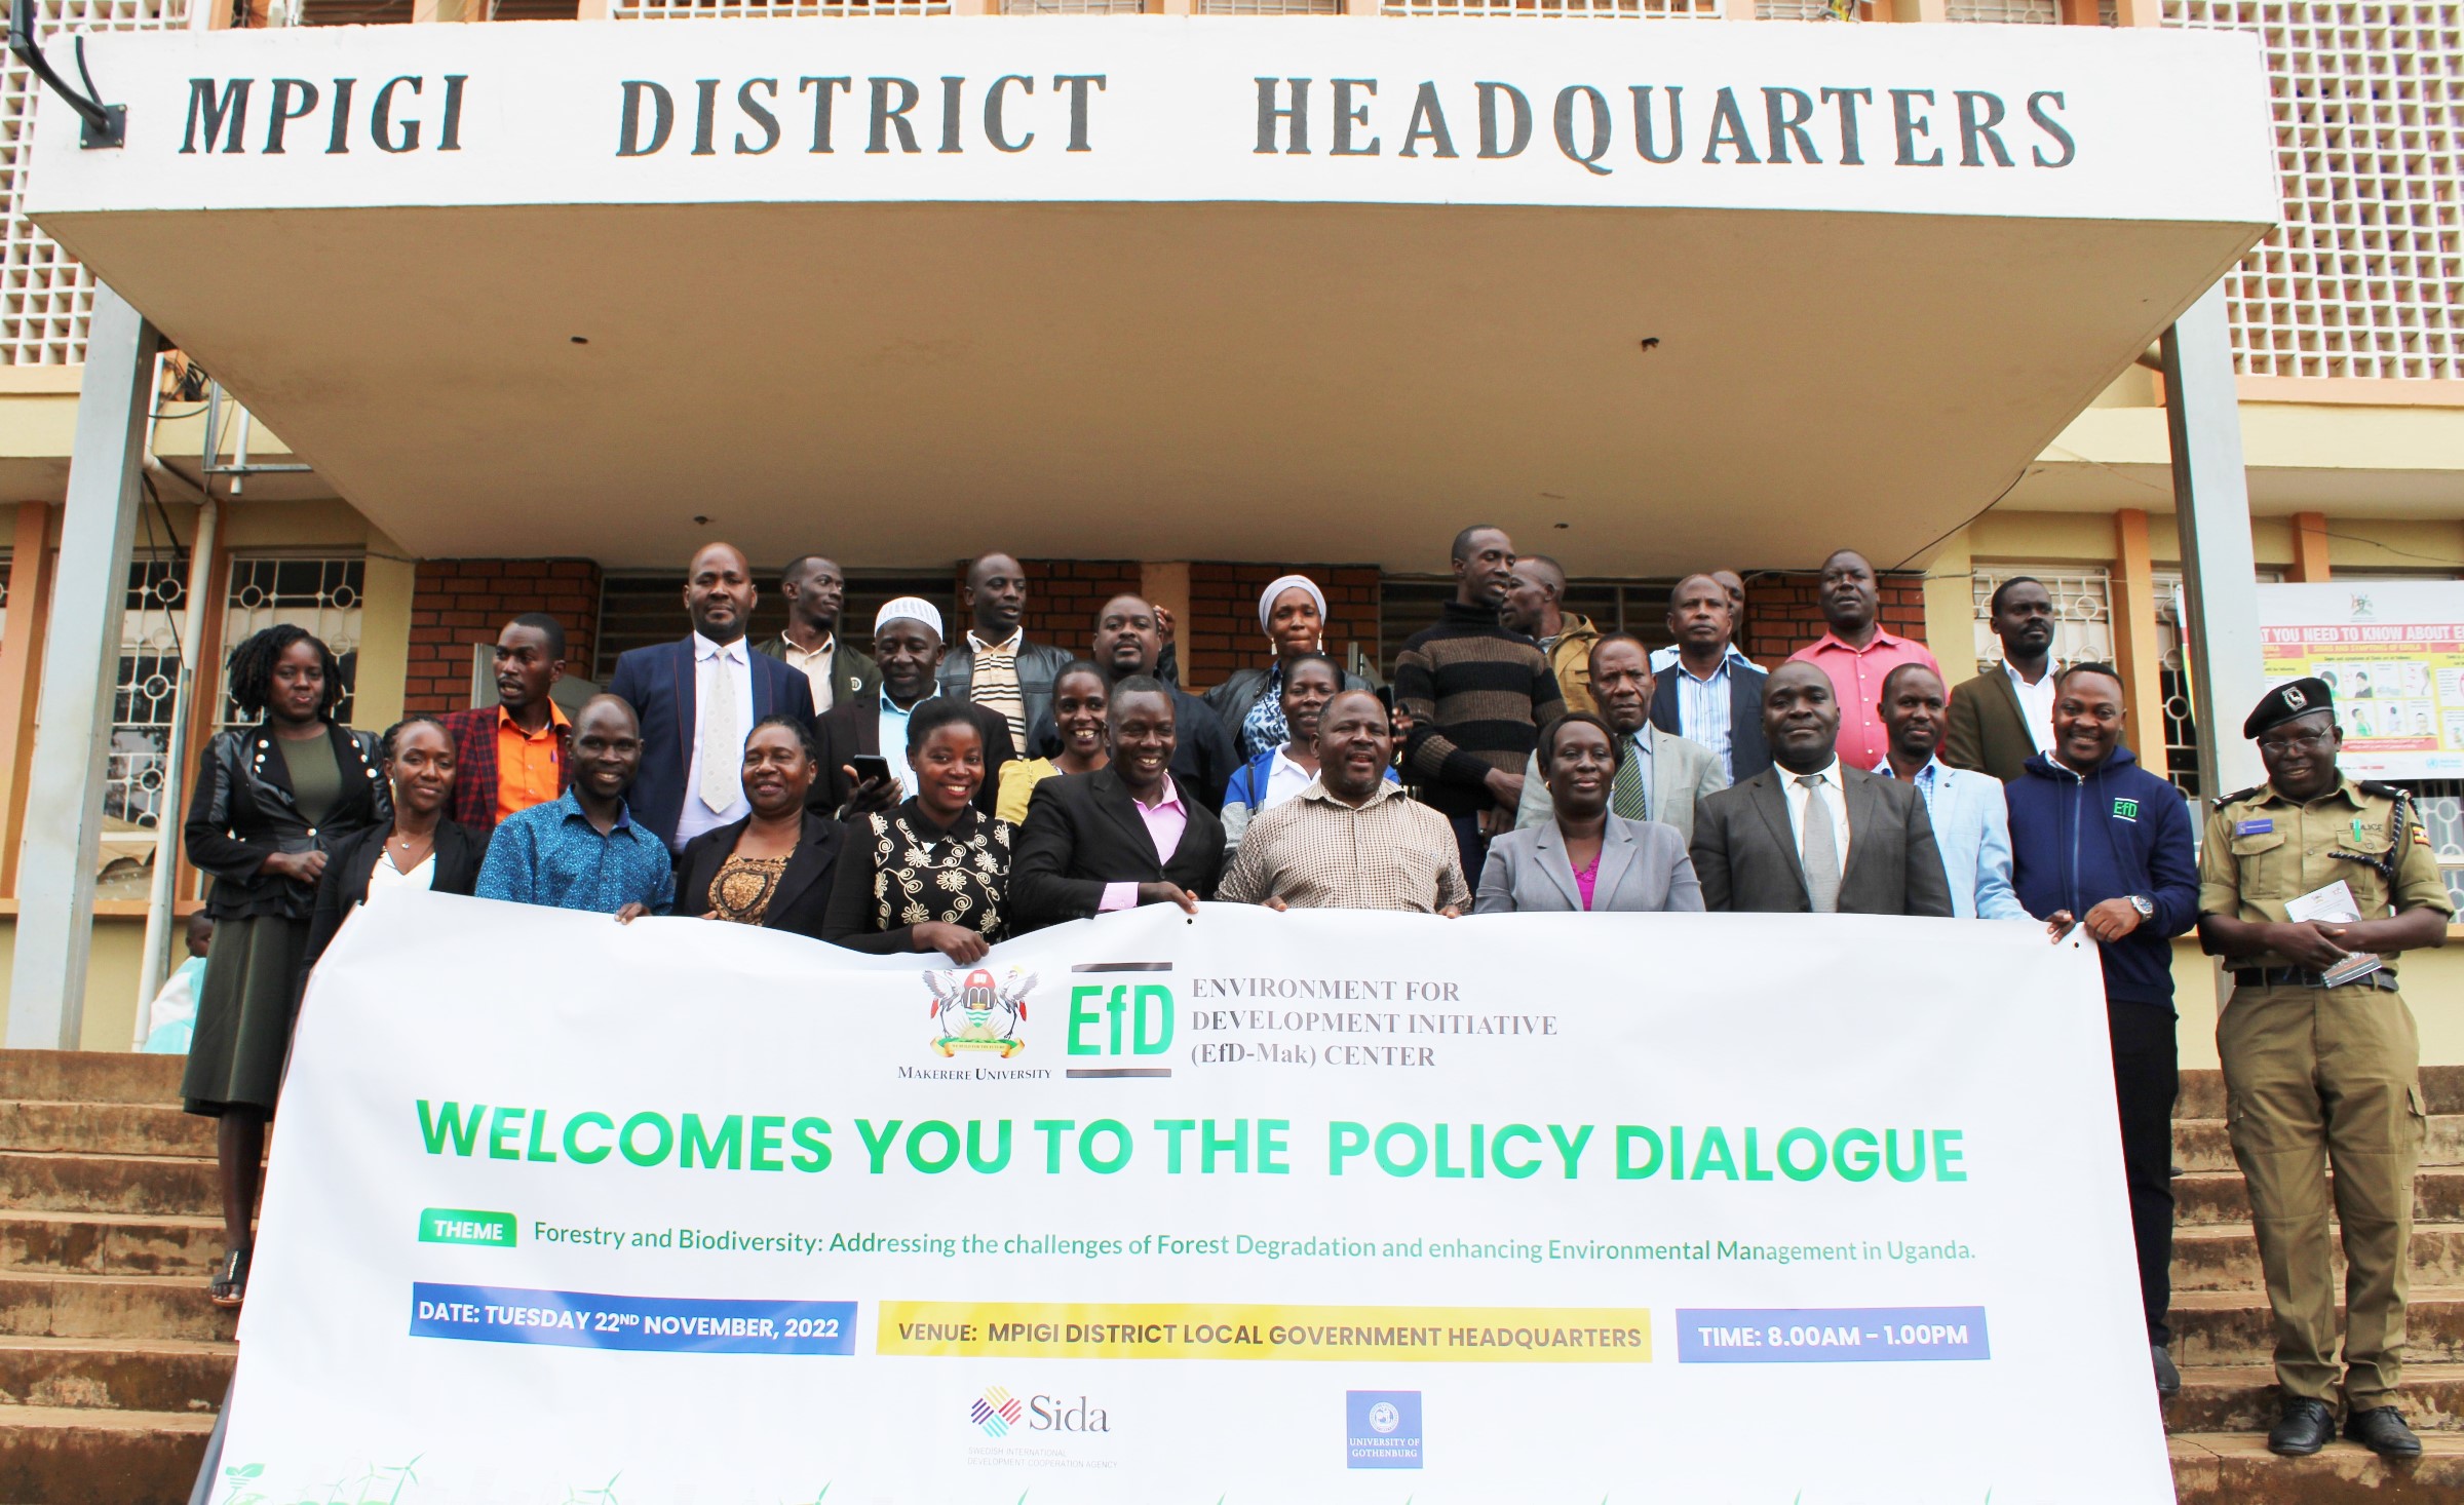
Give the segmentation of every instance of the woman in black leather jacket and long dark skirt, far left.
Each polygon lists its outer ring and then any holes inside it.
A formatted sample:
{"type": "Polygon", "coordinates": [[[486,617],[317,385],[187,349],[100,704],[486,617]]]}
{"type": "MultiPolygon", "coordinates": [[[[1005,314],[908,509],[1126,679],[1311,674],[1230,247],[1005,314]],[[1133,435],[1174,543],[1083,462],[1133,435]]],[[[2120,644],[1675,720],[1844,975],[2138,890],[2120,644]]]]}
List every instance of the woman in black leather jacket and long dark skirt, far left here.
{"type": "Polygon", "coordinates": [[[214,879],[205,899],[214,948],[180,1096],[190,1113],[219,1118],[214,1160],[229,1244],[214,1271],[214,1305],[239,1305],[246,1293],[266,1121],[291,1052],[328,852],[394,818],[377,739],[333,722],[342,695],[342,665],[308,631],[281,623],[241,643],[232,653],[232,704],[256,724],[207,744],[187,805],[187,860],[214,879]]]}

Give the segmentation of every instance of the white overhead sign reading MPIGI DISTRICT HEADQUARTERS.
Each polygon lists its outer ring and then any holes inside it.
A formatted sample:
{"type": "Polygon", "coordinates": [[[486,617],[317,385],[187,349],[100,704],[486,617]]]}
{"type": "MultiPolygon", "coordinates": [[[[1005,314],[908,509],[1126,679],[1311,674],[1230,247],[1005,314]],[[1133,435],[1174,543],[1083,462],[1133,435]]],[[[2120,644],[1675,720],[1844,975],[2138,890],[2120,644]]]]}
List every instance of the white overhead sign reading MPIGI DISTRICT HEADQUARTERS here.
{"type": "Polygon", "coordinates": [[[2257,44],[2213,32],[559,22],[116,34],[91,62],[128,145],[42,131],[37,214],[1264,200],[2274,219],[2257,44]]]}

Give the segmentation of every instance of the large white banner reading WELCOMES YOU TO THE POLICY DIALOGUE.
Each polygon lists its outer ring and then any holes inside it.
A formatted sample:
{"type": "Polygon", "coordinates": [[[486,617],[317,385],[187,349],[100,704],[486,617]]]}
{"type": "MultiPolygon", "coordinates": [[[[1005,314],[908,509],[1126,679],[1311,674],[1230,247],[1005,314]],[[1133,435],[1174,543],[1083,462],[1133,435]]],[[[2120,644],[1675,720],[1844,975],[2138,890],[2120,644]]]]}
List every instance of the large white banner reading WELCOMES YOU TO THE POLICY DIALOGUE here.
{"type": "Polygon", "coordinates": [[[222,1466],[219,1505],[2173,1498],[2094,956],[1745,914],[1141,909],[951,970],[387,894],[308,993],[222,1466]]]}

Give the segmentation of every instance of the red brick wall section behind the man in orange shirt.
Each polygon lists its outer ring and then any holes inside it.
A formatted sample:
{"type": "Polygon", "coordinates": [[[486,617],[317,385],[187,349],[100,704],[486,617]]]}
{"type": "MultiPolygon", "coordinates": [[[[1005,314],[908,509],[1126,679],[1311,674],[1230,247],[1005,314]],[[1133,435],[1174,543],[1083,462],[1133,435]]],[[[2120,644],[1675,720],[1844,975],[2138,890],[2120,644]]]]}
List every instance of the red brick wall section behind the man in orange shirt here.
{"type": "Polygon", "coordinates": [[[471,645],[495,643],[525,611],[564,623],[564,663],[591,668],[599,628],[599,567],[589,559],[424,559],[411,589],[411,670],[404,712],[471,704],[471,645]]]}

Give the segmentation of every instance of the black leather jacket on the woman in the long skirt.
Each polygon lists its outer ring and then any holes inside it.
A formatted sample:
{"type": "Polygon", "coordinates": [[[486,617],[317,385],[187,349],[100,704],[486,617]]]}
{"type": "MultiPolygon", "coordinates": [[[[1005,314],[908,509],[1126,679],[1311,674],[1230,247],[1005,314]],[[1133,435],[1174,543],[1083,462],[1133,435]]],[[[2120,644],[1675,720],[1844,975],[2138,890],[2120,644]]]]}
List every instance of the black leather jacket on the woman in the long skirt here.
{"type": "Polygon", "coordinates": [[[264,872],[274,852],[330,852],[370,825],[392,825],[394,793],[375,732],[325,727],[342,793],[320,825],[308,825],[291,798],[291,769],[269,727],[219,732],[197,759],[197,791],[187,801],[187,860],[214,879],[205,911],[214,919],[278,914],[308,919],[315,884],[264,872]]]}

